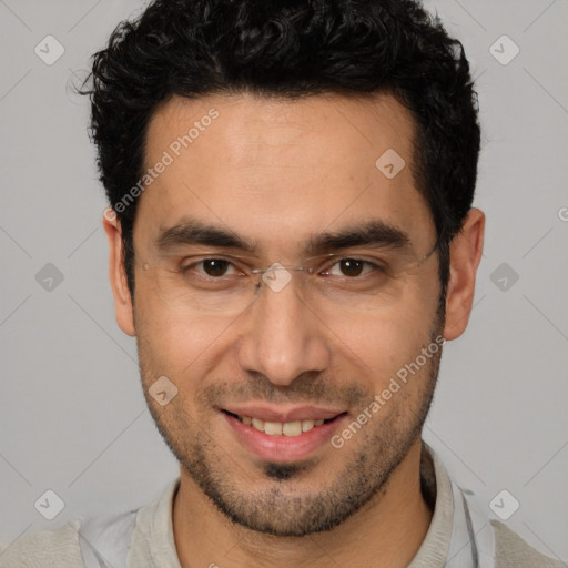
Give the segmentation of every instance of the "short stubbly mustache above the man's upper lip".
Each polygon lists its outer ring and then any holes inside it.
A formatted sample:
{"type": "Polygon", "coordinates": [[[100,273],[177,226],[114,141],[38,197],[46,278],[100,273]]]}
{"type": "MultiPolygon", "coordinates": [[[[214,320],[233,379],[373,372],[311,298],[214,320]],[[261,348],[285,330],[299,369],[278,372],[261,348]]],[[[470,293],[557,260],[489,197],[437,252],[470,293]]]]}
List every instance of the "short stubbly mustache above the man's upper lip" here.
{"type": "Polygon", "coordinates": [[[364,406],[373,398],[373,388],[358,384],[358,379],[337,383],[322,374],[304,373],[290,385],[274,385],[260,373],[251,373],[244,382],[219,381],[203,388],[200,402],[206,406],[220,406],[231,402],[263,400],[272,404],[308,403],[323,406],[343,403],[349,407],[364,406]]]}

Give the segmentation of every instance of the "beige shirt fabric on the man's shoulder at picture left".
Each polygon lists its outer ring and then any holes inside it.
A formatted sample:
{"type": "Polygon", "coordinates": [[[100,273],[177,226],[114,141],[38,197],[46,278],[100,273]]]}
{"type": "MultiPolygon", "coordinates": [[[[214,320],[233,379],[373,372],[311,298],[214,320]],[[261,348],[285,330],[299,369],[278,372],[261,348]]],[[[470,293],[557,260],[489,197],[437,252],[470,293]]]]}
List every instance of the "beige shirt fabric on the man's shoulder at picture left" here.
{"type": "Polygon", "coordinates": [[[23,535],[0,547],[0,568],[83,568],[79,548],[80,521],[70,520],[57,530],[23,535]]]}

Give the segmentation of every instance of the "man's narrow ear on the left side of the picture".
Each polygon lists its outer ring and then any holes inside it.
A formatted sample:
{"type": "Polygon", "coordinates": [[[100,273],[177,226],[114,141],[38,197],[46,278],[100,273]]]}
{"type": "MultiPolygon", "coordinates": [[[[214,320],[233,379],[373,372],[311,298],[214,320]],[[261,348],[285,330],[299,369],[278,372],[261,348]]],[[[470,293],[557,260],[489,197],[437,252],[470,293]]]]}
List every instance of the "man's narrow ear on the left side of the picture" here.
{"type": "Polygon", "coordinates": [[[124,270],[122,230],[112,209],[104,211],[102,225],[109,239],[109,277],[114,296],[116,323],[126,335],[134,336],[134,311],[124,270]]]}

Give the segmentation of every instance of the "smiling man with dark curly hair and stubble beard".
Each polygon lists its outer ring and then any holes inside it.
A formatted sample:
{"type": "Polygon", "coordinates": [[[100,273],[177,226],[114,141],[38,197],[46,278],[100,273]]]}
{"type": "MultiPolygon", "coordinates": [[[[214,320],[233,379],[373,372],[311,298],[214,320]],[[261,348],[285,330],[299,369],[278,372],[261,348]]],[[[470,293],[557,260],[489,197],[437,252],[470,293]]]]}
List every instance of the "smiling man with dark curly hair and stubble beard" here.
{"type": "Polygon", "coordinates": [[[483,252],[460,43],[409,0],[156,0],[90,93],[116,320],[181,476],[0,565],[561,566],[422,442],[483,252]]]}

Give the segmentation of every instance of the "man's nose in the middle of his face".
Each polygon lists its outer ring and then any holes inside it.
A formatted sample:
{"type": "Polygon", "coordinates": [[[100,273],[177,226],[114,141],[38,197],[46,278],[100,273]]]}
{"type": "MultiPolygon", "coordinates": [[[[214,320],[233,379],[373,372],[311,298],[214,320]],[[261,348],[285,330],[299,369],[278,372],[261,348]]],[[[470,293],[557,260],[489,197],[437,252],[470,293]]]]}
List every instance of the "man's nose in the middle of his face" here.
{"type": "Polygon", "coordinates": [[[327,329],[298,295],[298,285],[295,278],[282,290],[261,284],[237,342],[241,368],[262,373],[278,386],[288,386],[306,372],[322,372],[331,362],[327,329]]]}

